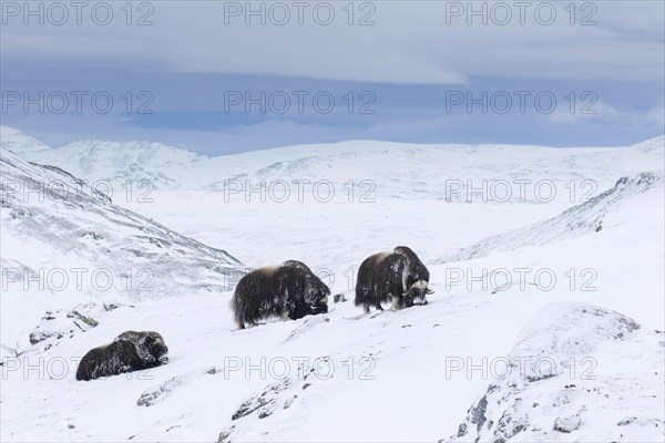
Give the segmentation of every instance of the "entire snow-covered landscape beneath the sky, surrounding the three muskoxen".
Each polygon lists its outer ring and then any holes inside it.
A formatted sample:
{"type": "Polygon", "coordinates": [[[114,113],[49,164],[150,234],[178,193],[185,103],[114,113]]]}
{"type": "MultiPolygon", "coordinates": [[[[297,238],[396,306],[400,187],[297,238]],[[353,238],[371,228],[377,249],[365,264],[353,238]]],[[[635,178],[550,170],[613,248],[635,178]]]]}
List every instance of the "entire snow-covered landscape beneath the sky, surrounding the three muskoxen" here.
{"type": "MultiPolygon", "coordinates": [[[[3,203],[3,269],[71,268],[71,256],[133,269],[145,254],[160,276],[145,297],[2,288],[2,441],[665,437],[663,137],[556,150],[347,142],[213,158],[147,143],[50,148],[7,127],[1,143],[114,190],[103,210],[3,203]],[[154,187],[122,187],[142,179],[154,187]],[[31,225],[12,216],[27,209],[31,225]],[[145,237],[180,243],[157,241],[157,254],[135,227],[119,228],[127,219],[154,229],[145,237]],[[93,222],[103,238],[72,240],[93,222]],[[398,245],[426,262],[436,292],[427,306],[362,316],[352,305],[357,268],[398,245]],[[205,264],[290,258],[348,301],[237,330],[232,292],[205,264]],[[30,343],[38,327],[60,321],[45,310],[64,316],[89,299],[122,306],[85,315],[99,324],[84,333],[30,343]],[[75,360],[127,329],[162,333],[170,363],[76,382],[75,360]]],[[[37,179],[54,171],[7,158],[37,179]]],[[[3,163],[3,179],[8,171],[3,163]]]]}

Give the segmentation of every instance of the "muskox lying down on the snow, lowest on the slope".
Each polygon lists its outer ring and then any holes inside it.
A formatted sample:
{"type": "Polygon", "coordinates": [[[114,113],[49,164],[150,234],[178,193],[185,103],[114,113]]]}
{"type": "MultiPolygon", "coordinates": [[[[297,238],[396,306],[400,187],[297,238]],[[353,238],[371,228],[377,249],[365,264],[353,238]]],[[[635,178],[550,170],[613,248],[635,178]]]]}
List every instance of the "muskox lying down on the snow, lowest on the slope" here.
{"type": "Polygon", "coordinates": [[[126,331],[113,342],[91,349],[81,359],[76,380],[94,380],[155,368],[168,361],[168,348],[157,332],[126,331]]]}

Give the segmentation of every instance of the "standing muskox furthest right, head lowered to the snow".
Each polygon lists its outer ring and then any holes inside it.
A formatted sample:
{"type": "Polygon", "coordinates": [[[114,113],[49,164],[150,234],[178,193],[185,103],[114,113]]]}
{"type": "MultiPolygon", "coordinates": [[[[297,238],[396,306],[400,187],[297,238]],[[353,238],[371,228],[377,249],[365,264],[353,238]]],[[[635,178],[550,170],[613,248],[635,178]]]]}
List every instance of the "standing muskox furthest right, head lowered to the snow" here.
{"type": "Polygon", "coordinates": [[[356,306],[365,312],[375,306],[383,310],[382,301],[391,301],[393,309],[411,307],[418,300],[427,305],[429,271],[416,253],[398,246],[392,253],[379,253],[367,257],[358,269],[356,306]]]}

